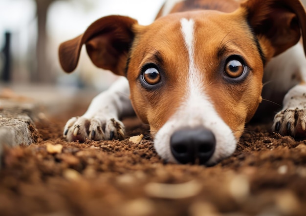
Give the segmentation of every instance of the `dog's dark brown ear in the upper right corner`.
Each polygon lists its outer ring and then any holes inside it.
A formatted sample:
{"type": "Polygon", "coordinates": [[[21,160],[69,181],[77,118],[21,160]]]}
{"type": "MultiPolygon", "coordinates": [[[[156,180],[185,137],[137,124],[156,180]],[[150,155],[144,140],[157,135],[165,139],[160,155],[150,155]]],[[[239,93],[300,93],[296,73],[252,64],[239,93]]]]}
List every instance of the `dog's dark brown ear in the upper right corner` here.
{"type": "Polygon", "coordinates": [[[269,41],[267,58],[295,45],[301,32],[306,53],[306,13],[300,0],[247,0],[240,6],[246,9],[247,20],[260,42],[269,41]]]}

